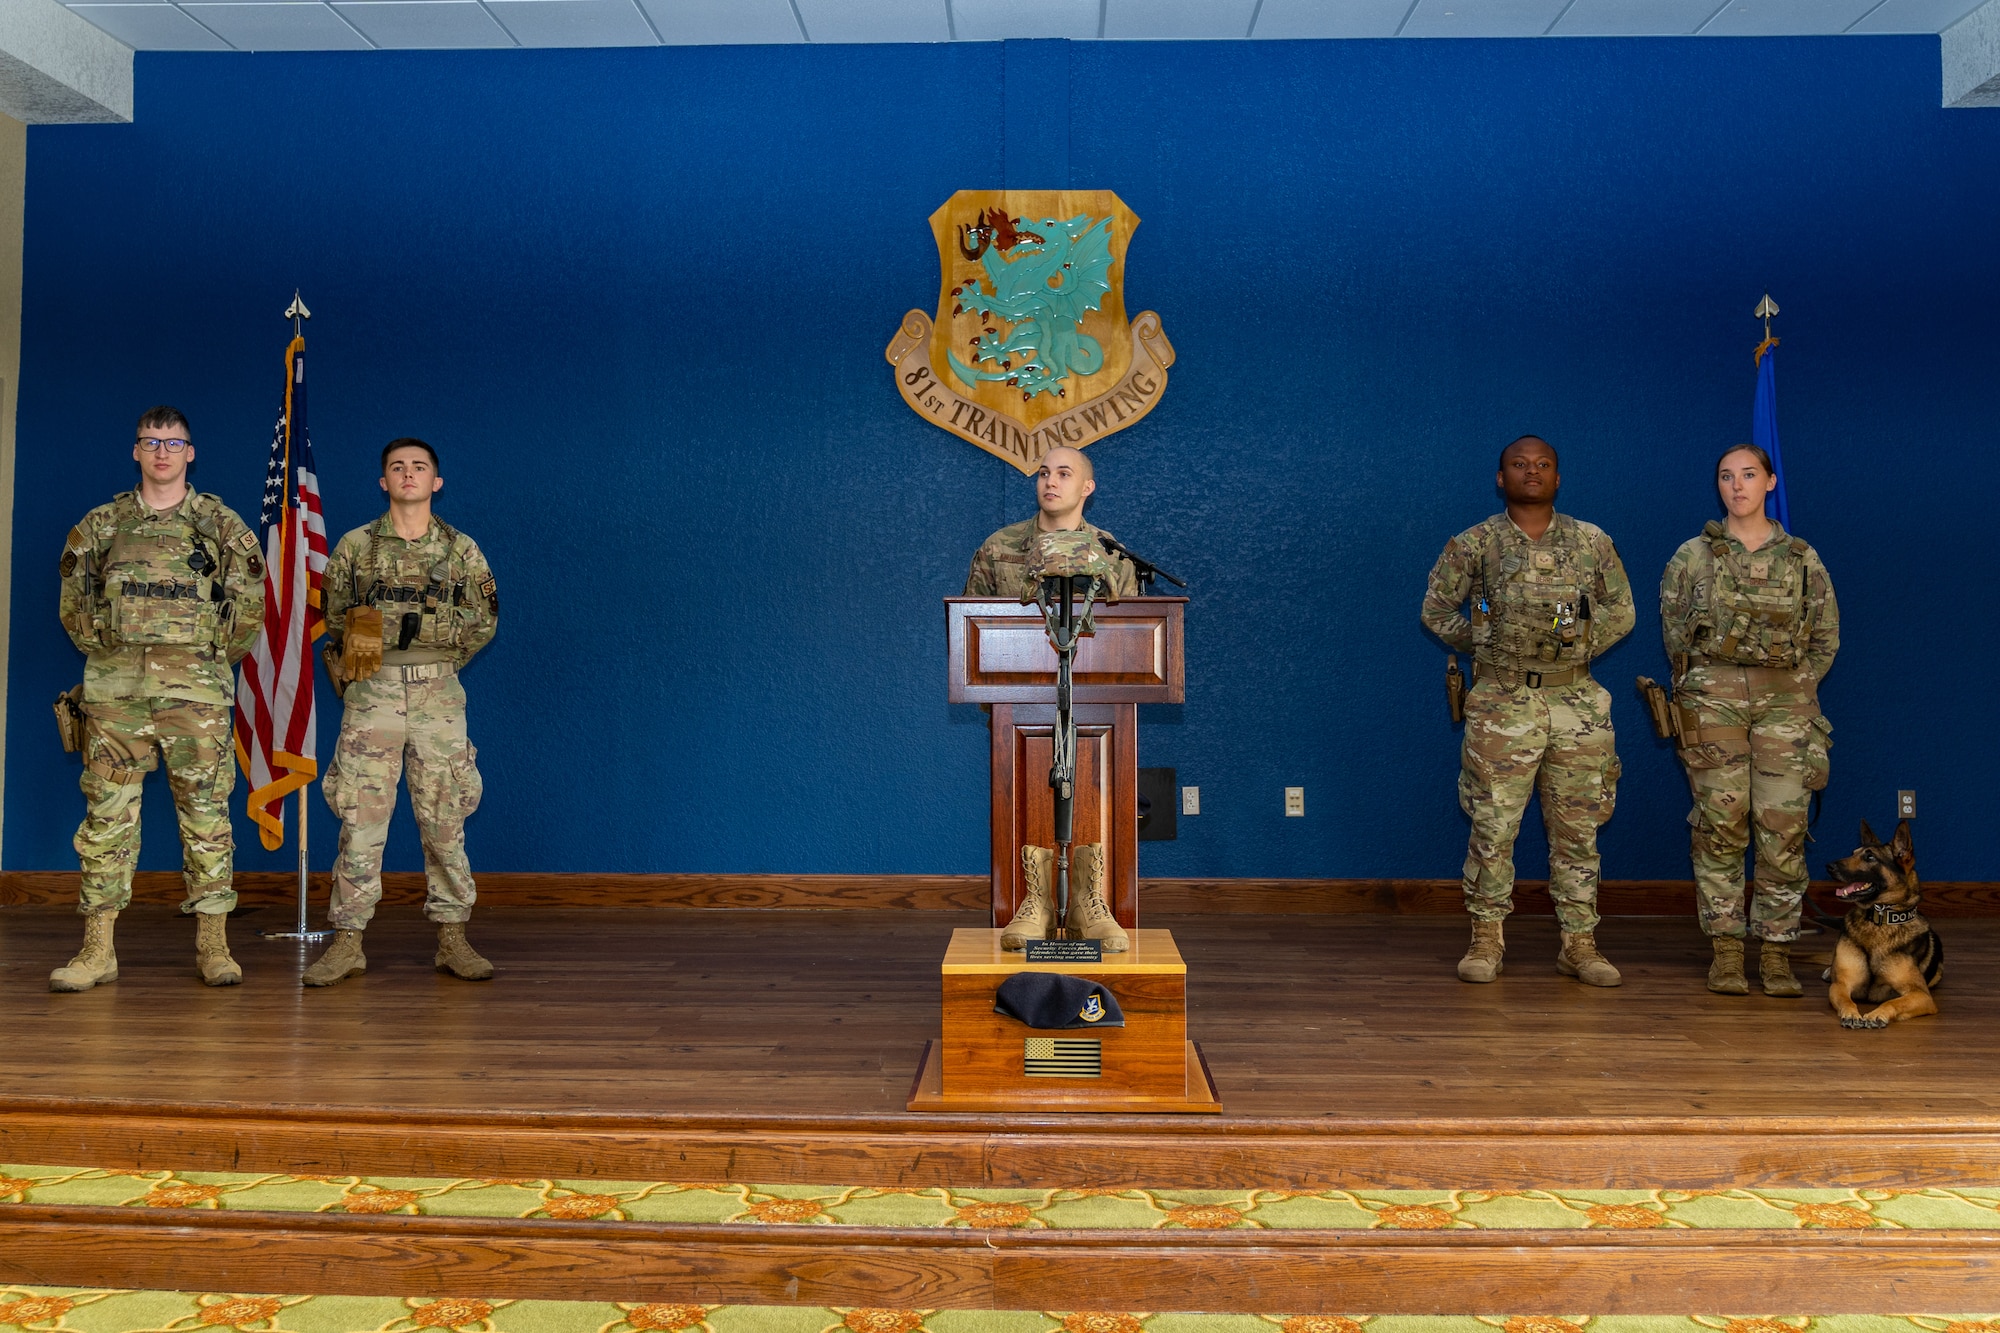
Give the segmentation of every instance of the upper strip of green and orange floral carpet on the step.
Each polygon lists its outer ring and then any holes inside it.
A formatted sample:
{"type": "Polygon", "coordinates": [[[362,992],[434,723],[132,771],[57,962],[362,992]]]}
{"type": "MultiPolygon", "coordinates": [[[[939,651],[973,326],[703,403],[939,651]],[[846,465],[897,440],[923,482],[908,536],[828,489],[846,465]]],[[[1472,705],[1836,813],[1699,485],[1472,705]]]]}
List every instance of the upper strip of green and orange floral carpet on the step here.
{"type": "Polygon", "coordinates": [[[0,1205],[4,1203],[556,1221],[1140,1231],[1164,1227],[1198,1231],[1230,1227],[2000,1229],[2000,1189],[878,1189],[0,1165],[0,1205]]]}

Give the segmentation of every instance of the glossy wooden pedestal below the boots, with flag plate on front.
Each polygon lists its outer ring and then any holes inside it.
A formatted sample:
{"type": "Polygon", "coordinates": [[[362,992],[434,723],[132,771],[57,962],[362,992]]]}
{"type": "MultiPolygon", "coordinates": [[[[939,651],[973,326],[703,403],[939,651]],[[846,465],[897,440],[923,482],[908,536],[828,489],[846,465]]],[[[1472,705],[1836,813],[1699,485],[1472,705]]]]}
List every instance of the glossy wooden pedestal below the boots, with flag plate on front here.
{"type": "Polygon", "coordinates": [[[944,1035],[924,1049],[910,1111],[1222,1111],[1188,1041],[1188,965],[1172,931],[1132,931],[1102,963],[1028,963],[1000,931],[958,929],[944,953],[944,1035]],[[1016,973],[1068,973],[1118,999],[1124,1027],[1030,1029],[994,1013],[1016,973]]]}

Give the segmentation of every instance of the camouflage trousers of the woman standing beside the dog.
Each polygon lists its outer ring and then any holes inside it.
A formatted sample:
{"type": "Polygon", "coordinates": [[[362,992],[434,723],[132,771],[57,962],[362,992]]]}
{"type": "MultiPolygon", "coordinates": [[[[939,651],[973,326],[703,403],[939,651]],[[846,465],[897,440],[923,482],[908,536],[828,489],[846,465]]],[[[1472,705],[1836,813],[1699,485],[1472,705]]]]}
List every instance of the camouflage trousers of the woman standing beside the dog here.
{"type": "Polygon", "coordinates": [[[1708,935],[1798,939],[1806,893],[1806,817],[1826,787],[1832,729],[1810,677],[1758,666],[1694,666],[1676,693],[1702,731],[1744,729],[1750,739],[1704,741],[1680,753],[1694,791],[1688,845],[1696,911],[1708,935]],[[1756,881],[1744,921],[1744,853],[1756,843],[1756,881]]]}

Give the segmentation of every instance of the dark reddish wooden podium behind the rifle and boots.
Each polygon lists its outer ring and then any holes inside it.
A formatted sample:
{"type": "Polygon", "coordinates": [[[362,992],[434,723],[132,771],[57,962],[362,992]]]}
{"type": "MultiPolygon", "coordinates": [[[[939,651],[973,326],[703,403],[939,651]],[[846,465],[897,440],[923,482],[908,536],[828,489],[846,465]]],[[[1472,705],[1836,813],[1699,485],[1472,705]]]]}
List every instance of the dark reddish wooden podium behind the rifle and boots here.
{"type": "MultiPolygon", "coordinates": [[[[1138,929],[1138,705],[1180,703],[1184,596],[1098,604],[1076,644],[1076,841],[1104,843],[1112,915],[1138,929]]],[[[1048,765],[1056,727],[1056,650],[1034,602],[944,598],[952,703],[992,709],[992,923],[1020,907],[1020,849],[1054,843],[1048,765]]]]}

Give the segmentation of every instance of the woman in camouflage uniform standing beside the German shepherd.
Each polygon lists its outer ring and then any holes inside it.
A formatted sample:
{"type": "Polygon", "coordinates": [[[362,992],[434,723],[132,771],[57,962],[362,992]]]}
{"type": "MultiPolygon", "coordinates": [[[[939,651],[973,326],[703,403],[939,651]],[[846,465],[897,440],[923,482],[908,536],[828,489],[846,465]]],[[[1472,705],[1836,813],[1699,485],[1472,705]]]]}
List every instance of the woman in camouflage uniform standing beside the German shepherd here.
{"type": "Polygon", "coordinates": [[[1744,935],[1762,941],[1766,995],[1804,993],[1786,943],[1806,893],[1806,815],[1826,787],[1832,727],[1820,681],[1840,648],[1840,606],[1818,552],[1764,518],[1774,484],[1762,450],[1718,462],[1730,522],[1710,522],[1660,578],[1660,630],[1676,666],[1680,763],[1688,769],[1694,887],[1714,945],[1708,989],[1748,995],[1744,935]],[[1736,508],[1746,510],[1740,518],[1736,508]],[[1746,544],[1736,534],[1748,530],[1746,544]],[[1756,881],[1744,919],[1744,853],[1756,881]]]}

